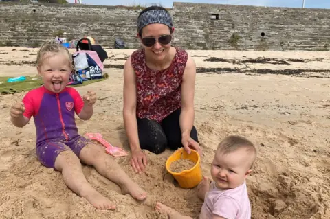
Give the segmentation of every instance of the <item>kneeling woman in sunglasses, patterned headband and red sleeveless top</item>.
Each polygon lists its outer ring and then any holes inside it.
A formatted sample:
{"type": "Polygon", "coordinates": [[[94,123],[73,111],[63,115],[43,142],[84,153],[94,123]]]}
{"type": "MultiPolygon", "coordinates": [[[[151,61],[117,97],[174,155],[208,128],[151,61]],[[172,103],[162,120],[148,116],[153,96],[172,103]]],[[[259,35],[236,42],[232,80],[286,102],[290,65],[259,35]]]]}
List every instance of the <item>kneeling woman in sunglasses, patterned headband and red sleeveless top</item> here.
{"type": "Polygon", "coordinates": [[[194,123],[196,65],[184,49],[171,47],[174,27],[166,9],[152,6],[137,19],[143,49],[124,66],[124,126],[131,148],[131,165],[142,172],[142,149],[155,154],[184,146],[201,153],[194,123]]]}

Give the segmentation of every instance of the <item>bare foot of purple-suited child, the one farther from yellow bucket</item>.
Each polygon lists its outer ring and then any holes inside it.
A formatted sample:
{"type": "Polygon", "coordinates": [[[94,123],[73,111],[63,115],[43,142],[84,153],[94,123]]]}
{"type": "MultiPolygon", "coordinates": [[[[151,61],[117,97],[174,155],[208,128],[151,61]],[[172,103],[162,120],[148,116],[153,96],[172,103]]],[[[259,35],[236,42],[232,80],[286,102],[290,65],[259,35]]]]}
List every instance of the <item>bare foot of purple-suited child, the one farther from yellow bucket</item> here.
{"type": "Polygon", "coordinates": [[[89,191],[83,192],[81,194],[83,198],[86,198],[91,205],[99,210],[114,210],[115,204],[111,202],[108,198],[102,196],[95,189],[89,189],[89,191]]]}

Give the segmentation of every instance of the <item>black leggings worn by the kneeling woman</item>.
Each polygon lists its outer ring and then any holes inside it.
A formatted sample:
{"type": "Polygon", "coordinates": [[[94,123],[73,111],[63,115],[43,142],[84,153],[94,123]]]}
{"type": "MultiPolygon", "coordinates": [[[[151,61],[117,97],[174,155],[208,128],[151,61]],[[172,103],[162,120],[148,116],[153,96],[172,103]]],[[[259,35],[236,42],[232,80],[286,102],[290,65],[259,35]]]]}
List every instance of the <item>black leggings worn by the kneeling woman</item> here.
{"type": "MultiPolygon", "coordinates": [[[[164,152],[167,146],[172,150],[181,148],[180,113],[181,108],[165,117],[160,124],[155,120],[137,117],[140,147],[155,154],[164,152]]],[[[190,137],[198,142],[195,126],[192,126],[190,137]]]]}

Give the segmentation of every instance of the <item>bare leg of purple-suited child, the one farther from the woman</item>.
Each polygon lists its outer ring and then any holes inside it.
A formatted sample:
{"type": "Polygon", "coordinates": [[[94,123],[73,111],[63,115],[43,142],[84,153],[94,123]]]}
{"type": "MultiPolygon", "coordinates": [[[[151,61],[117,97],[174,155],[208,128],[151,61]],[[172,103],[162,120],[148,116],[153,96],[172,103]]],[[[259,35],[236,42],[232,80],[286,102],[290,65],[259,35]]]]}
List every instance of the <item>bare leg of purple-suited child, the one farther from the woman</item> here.
{"type": "Polygon", "coordinates": [[[86,180],[80,160],[71,150],[61,152],[55,160],[54,168],[61,171],[67,187],[86,198],[96,209],[115,209],[115,205],[94,189],[86,180]]]}

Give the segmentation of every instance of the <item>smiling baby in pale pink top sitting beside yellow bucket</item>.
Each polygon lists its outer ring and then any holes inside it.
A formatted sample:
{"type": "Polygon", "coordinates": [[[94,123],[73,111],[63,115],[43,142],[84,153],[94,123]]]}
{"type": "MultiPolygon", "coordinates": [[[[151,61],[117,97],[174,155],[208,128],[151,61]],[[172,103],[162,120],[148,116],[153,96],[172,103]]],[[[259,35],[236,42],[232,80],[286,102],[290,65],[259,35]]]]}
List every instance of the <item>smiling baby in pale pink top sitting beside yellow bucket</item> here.
{"type": "MultiPolygon", "coordinates": [[[[244,137],[225,137],[215,152],[210,184],[204,177],[197,196],[204,200],[200,219],[250,219],[251,206],[245,178],[252,172],[256,160],[256,148],[244,137]],[[204,199],[205,197],[205,199],[204,199]]],[[[170,219],[190,218],[157,203],[155,209],[168,214],[170,219]]]]}

